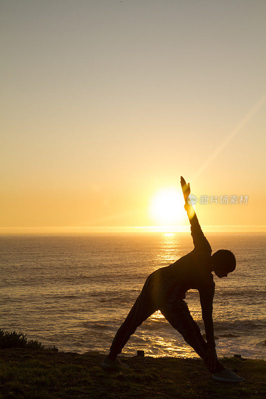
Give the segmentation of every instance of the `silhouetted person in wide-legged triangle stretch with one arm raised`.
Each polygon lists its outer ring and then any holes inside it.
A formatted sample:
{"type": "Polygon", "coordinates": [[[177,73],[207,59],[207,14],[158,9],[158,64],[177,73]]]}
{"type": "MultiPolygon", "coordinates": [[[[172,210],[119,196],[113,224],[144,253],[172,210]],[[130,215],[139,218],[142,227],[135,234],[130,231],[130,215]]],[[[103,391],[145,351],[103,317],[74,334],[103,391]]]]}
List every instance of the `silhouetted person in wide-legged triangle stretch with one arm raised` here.
{"type": "Polygon", "coordinates": [[[182,176],[181,187],[185,199],[184,207],[191,224],[194,249],[173,264],[161,267],[148,276],[139,297],[118,329],[110,347],[110,353],[103,361],[102,367],[104,369],[127,368],[117,359],[117,355],[122,352],[137,327],[154,312],[160,310],[166,320],[203,359],[215,380],[240,382],[244,379],[226,369],[217,358],[212,317],[215,292],[212,272],[214,271],[220,278],[227,277],[228,273],[236,268],[236,258],[231,251],[226,249],[220,249],[211,255],[212,248],[202,232],[193,206],[188,203],[190,184],[187,185],[182,176]],[[197,289],[200,293],[207,342],[203,339],[200,328],[184,301],[186,291],[189,289],[197,289]]]}

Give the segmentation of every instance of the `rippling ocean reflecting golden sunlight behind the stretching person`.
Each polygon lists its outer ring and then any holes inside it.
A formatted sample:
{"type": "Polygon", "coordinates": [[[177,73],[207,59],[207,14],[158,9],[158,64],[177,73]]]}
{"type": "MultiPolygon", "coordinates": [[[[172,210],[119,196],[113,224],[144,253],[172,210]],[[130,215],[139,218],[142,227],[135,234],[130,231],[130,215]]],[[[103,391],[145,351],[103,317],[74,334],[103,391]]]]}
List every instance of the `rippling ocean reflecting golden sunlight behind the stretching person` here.
{"type": "MultiPolygon", "coordinates": [[[[266,358],[266,233],[206,233],[213,252],[230,249],[237,268],[214,276],[218,356],[266,358]]],[[[193,249],[189,233],[0,236],[0,328],[84,353],[108,351],[147,276],[193,249]]],[[[199,293],[186,302],[204,333],[199,293]]],[[[124,347],[125,356],[198,357],[160,311],[124,347]]]]}

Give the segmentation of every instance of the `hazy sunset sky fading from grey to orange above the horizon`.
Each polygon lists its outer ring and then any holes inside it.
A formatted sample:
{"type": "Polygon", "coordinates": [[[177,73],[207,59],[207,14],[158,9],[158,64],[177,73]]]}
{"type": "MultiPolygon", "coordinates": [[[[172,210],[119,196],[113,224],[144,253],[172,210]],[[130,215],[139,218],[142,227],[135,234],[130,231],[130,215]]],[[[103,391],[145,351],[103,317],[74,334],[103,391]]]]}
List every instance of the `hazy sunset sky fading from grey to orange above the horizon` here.
{"type": "MultiPolygon", "coordinates": [[[[206,231],[266,231],[265,17],[258,0],[2,1],[0,233],[165,225],[152,199],[180,175],[198,199],[249,196],[199,200],[206,231]]],[[[166,230],[186,230],[178,206],[166,230]]]]}

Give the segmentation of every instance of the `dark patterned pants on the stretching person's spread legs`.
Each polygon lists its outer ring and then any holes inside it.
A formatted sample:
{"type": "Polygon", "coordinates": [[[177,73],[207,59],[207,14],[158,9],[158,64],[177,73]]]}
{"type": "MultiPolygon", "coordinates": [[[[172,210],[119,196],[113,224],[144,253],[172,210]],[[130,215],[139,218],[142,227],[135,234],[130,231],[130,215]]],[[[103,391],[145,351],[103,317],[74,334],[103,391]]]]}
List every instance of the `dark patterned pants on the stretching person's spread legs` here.
{"type": "MultiPolygon", "coordinates": [[[[166,320],[183,336],[185,341],[197,354],[204,359],[207,353],[207,343],[202,338],[200,328],[191,316],[188,305],[183,299],[176,297],[176,295],[164,298],[162,287],[158,290],[156,280],[151,277],[152,275],[146,280],[128,316],[118,329],[110,347],[110,352],[114,355],[120,354],[137,327],[154,312],[160,310],[166,320]]],[[[223,366],[217,359],[214,372],[221,371],[222,368],[223,366]]]]}

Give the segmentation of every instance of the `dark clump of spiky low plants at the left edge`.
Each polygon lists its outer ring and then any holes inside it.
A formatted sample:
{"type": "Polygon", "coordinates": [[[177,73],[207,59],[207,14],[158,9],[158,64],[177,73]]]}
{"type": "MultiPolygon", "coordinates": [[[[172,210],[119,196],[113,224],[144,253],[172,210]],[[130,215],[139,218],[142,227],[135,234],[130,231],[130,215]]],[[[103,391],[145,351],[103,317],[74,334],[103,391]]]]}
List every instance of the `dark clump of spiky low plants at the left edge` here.
{"type": "Polygon", "coordinates": [[[58,348],[55,346],[53,348],[48,347],[45,348],[44,345],[41,345],[41,342],[37,340],[27,340],[27,334],[23,334],[21,331],[19,333],[13,331],[4,331],[2,328],[0,329],[0,348],[29,348],[29,349],[39,349],[39,350],[48,350],[58,352],[58,348]]]}

